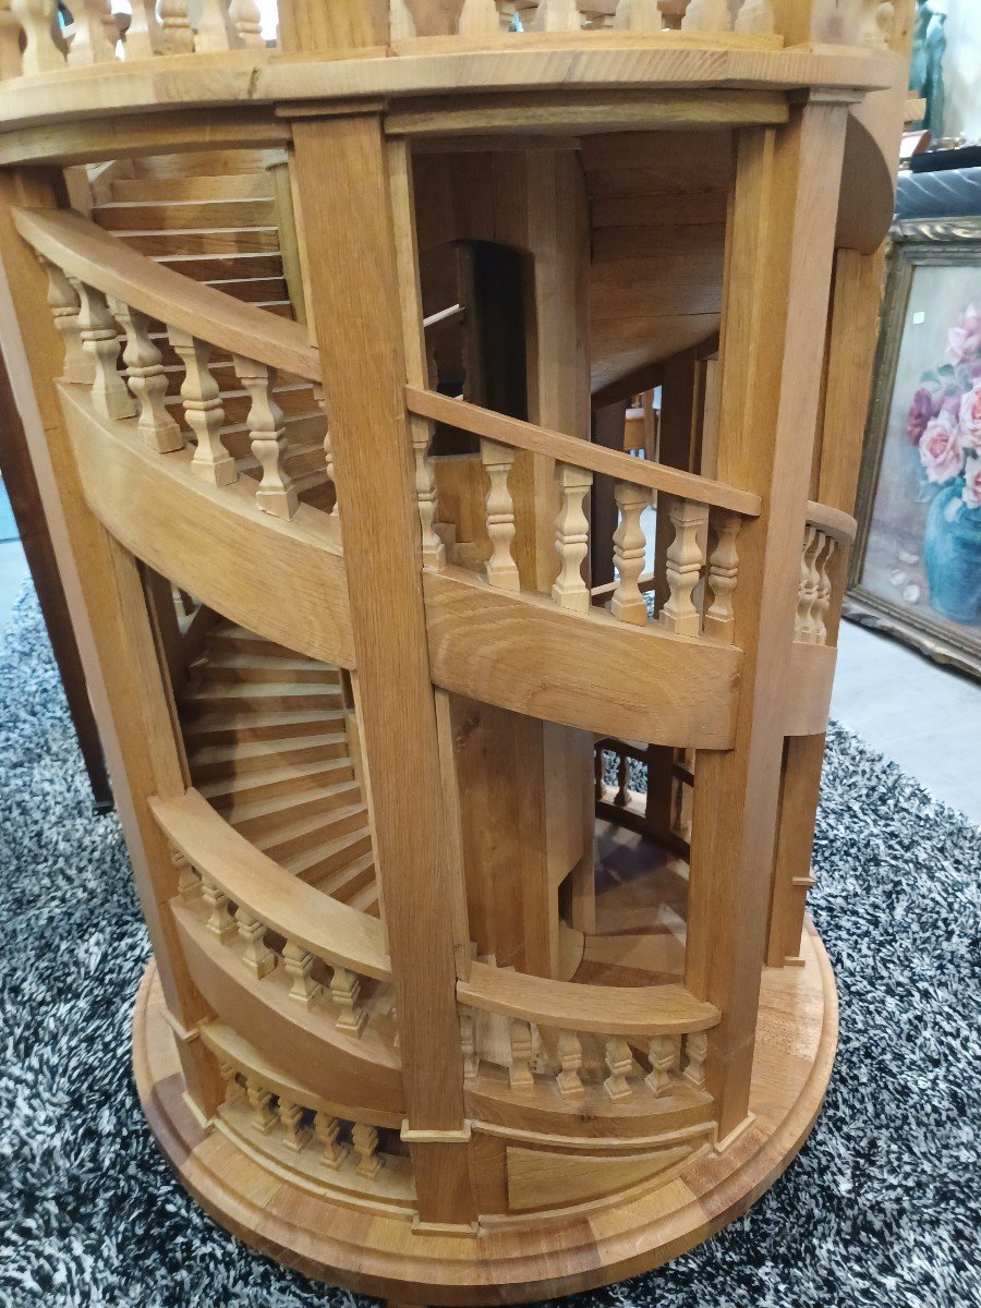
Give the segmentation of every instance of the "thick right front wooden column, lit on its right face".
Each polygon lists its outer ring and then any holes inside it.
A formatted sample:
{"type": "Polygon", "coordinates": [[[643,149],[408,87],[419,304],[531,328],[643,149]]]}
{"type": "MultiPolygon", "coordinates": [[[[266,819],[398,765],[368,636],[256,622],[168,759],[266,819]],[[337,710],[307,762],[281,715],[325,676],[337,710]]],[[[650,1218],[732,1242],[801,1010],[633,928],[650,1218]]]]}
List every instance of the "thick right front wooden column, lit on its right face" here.
{"type": "Polygon", "coordinates": [[[722,1011],[706,1063],[722,1138],[749,1096],[846,112],[811,101],[743,131],[730,211],[718,476],[763,511],[740,535],[735,746],[696,763],[685,968],[722,1011]]]}

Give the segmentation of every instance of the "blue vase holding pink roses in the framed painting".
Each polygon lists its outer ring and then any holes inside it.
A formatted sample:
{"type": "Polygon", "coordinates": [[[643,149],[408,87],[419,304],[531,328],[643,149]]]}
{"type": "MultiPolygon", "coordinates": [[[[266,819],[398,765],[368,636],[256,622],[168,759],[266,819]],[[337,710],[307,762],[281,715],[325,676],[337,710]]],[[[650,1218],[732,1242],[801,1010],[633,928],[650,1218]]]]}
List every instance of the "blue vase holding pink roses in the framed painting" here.
{"type": "Polygon", "coordinates": [[[923,561],[933,607],[955,623],[981,623],[981,509],[964,504],[963,477],[930,505],[923,561]]]}

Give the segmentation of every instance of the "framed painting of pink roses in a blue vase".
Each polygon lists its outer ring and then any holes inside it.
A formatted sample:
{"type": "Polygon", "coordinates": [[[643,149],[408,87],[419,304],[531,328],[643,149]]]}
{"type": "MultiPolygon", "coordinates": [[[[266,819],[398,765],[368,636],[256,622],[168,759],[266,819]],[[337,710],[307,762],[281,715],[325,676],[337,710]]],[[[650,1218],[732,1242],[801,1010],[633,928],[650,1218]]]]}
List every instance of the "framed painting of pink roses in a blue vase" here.
{"type": "Polygon", "coordinates": [[[892,232],[845,613],[981,678],[981,217],[892,232]]]}

